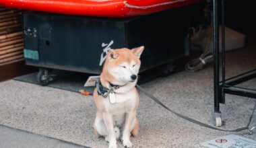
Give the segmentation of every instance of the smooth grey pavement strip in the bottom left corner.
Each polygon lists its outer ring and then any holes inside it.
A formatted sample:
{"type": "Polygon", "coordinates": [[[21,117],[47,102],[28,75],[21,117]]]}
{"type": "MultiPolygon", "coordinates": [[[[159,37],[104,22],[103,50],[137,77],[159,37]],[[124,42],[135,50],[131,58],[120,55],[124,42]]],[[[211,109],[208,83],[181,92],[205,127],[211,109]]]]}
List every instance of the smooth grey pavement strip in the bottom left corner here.
{"type": "Polygon", "coordinates": [[[86,148],[75,143],[44,137],[27,131],[0,125],[1,148],[86,148]]]}

